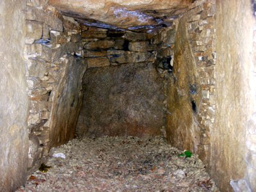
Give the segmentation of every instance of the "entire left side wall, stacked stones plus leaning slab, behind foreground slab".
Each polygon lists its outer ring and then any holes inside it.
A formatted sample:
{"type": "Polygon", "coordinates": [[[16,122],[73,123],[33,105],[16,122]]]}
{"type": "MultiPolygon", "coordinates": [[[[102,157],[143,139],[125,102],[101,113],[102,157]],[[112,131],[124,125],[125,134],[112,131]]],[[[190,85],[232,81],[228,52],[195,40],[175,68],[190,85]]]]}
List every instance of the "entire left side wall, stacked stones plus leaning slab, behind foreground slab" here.
{"type": "Polygon", "coordinates": [[[74,138],[86,63],[79,25],[47,1],[27,1],[26,29],[31,173],[45,163],[49,148],[74,138]]]}

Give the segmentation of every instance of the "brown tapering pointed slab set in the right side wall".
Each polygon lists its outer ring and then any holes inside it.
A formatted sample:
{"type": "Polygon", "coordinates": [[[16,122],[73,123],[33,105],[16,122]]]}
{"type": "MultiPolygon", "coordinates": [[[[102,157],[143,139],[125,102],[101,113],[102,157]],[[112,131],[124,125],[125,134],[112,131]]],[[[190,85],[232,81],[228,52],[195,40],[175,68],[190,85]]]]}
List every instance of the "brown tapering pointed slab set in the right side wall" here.
{"type": "Polygon", "coordinates": [[[194,152],[200,142],[200,128],[195,116],[202,91],[187,30],[184,18],[180,19],[175,37],[173,79],[168,81],[166,134],[175,147],[194,152]]]}

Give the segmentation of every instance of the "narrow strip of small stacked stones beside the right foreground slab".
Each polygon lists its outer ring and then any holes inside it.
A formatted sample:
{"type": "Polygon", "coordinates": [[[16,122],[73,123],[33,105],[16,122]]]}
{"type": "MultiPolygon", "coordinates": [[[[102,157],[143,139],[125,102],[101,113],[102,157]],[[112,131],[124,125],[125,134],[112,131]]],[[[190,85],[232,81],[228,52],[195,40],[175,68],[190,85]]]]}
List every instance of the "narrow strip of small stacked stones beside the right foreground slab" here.
{"type": "Polygon", "coordinates": [[[188,22],[189,40],[196,60],[202,90],[202,102],[198,110],[200,127],[199,156],[209,162],[209,141],[215,115],[215,63],[216,26],[215,1],[196,1],[184,15],[188,22]]]}

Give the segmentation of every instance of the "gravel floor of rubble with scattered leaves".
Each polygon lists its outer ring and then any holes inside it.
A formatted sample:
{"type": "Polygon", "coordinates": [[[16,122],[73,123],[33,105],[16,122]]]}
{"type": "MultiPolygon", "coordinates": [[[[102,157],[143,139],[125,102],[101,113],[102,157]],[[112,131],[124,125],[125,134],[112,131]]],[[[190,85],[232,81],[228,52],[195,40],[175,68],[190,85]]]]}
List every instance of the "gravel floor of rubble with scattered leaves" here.
{"type": "Polygon", "coordinates": [[[202,161],[181,152],[160,136],[75,139],[52,148],[52,168],[29,175],[17,191],[218,191],[202,161]]]}

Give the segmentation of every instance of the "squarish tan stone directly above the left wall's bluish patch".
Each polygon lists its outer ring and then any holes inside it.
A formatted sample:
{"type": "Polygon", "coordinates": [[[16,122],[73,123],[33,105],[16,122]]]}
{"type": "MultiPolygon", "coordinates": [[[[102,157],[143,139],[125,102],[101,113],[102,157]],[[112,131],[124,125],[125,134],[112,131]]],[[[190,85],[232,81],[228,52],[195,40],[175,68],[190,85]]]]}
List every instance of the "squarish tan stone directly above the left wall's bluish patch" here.
{"type": "Polygon", "coordinates": [[[26,20],[26,37],[33,38],[34,40],[38,40],[42,37],[43,26],[40,22],[26,20]]]}

